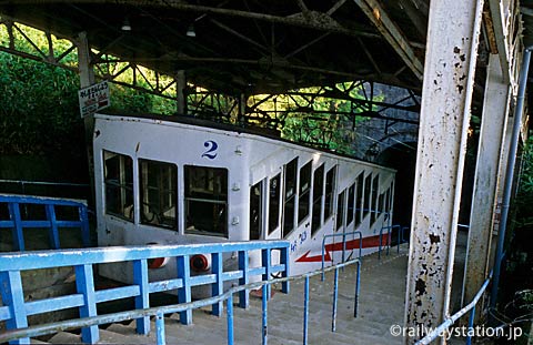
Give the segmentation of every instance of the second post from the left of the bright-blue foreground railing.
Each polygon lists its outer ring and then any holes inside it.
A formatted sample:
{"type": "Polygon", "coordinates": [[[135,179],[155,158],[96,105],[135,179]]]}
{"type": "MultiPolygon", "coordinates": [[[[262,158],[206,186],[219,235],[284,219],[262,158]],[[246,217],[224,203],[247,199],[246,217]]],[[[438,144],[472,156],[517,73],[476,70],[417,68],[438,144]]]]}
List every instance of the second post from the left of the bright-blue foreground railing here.
{"type": "MultiPolygon", "coordinates": [[[[76,287],[83,295],[83,305],[79,307],[80,317],[97,316],[97,301],[94,295],[94,277],[92,265],[76,266],[76,287]]],[[[86,344],[95,344],[99,339],[98,326],[81,328],[81,341],[86,344]]]]}

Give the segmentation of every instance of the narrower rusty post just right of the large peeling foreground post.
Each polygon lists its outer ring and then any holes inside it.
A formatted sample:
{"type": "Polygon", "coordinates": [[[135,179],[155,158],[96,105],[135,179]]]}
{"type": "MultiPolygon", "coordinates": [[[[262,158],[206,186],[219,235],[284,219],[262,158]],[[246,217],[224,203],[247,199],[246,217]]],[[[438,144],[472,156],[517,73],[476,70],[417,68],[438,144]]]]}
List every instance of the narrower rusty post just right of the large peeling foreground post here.
{"type": "MultiPolygon", "coordinates": [[[[487,277],[500,152],[509,111],[509,84],[500,58],[491,54],[475,168],[461,305],[470,303],[487,277]]],[[[480,308],[477,308],[480,311],[480,308]]],[[[477,312],[480,314],[480,312],[477,312]]]]}

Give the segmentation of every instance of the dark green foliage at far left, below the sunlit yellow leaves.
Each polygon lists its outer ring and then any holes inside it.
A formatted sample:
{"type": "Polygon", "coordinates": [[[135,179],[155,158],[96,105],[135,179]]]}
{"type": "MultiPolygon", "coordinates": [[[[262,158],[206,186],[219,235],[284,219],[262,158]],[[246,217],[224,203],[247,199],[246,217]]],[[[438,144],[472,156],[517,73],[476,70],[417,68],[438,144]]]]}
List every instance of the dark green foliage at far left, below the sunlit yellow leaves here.
{"type": "Polygon", "coordinates": [[[0,153],[42,153],[79,141],[77,75],[0,54],[0,153]]]}

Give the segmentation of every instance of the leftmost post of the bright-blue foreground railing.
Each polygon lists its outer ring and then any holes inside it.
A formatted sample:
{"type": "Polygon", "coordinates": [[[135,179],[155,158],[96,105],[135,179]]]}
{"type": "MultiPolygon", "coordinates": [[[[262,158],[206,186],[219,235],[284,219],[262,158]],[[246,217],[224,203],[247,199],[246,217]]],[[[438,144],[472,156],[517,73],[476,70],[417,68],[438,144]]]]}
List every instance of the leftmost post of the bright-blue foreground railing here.
{"type": "MultiPolygon", "coordinates": [[[[7,328],[17,329],[28,327],[20,271],[0,272],[0,284],[2,303],[9,306],[9,311],[11,312],[11,318],[6,321],[7,328]]],[[[9,344],[30,344],[30,338],[11,341],[9,344]]]]}

